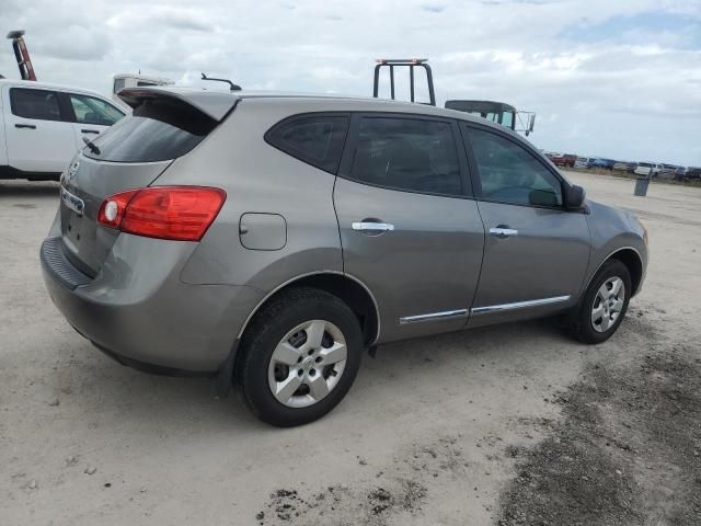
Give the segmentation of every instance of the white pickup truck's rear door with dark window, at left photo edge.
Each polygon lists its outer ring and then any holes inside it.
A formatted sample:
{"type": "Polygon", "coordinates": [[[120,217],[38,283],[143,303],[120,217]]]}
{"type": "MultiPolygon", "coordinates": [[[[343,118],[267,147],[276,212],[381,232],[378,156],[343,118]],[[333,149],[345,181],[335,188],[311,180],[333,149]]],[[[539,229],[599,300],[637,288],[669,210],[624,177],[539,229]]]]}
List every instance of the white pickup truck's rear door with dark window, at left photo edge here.
{"type": "Polygon", "coordinates": [[[4,87],[5,140],[9,164],[24,172],[59,174],[78,145],[58,92],[4,87]]]}

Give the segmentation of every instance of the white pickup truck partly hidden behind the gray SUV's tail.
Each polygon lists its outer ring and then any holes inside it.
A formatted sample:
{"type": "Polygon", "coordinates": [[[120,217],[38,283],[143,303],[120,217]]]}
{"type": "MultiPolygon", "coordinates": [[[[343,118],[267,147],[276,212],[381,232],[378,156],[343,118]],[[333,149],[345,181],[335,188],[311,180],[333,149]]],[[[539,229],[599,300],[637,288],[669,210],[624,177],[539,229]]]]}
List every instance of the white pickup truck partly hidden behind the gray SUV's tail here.
{"type": "Polygon", "coordinates": [[[125,115],[92,91],[0,79],[0,179],[53,180],[80,148],[125,115]]]}

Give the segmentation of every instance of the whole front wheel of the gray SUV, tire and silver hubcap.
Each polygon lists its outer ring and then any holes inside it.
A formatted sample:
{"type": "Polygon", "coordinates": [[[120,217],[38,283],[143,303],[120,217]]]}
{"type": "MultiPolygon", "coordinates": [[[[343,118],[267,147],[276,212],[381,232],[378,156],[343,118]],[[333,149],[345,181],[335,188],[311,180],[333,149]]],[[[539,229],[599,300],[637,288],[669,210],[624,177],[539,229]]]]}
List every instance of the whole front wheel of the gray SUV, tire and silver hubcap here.
{"type": "Polygon", "coordinates": [[[609,260],[596,273],[584,299],[570,315],[573,335],[589,344],[613,335],[625,317],[632,294],[631,274],[618,260],[609,260]]]}

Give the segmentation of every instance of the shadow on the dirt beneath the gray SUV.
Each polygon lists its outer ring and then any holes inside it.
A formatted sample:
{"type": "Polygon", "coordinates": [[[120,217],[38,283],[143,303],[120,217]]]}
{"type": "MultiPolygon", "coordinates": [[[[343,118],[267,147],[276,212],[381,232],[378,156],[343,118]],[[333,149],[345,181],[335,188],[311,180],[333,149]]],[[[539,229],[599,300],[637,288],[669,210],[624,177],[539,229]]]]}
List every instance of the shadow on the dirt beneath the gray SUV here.
{"type": "MultiPolygon", "coordinates": [[[[357,408],[364,404],[392,404],[398,397],[410,402],[412,397],[421,400],[435,381],[445,381],[448,389],[464,391],[461,371],[480,370],[485,363],[492,367],[522,370],[528,368],[533,350],[540,359],[543,354],[554,359],[562,356],[563,347],[576,352],[581,345],[570,340],[553,320],[481,328],[383,345],[378,348],[376,358],[363,357],[354,387],[326,419],[344,414],[343,418],[355,418],[357,408]],[[425,393],[423,389],[426,389],[425,393]]],[[[225,400],[214,399],[207,378],[140,373],[117,364],[88,343],[67,351],[71,357],[58,375],[60,386],[55,386],[61,392],[70,392],[70,396],[61,395],[67,398],[61,405],[77,404],[76,410],[83,415],[93,414],[95,422],[114,425],[115,421],[108,418],[112,414],[120,427],[134,427],[143,435],[186,426],[196,427],[197,432],[235,431],[237,434],[273,430],[250,413],[235,389],[225,400]]],[[[490,374],[489,368],[481,371],[490,374]]],[[[148,439],[147,436],[143,438],[148,439]]]]}

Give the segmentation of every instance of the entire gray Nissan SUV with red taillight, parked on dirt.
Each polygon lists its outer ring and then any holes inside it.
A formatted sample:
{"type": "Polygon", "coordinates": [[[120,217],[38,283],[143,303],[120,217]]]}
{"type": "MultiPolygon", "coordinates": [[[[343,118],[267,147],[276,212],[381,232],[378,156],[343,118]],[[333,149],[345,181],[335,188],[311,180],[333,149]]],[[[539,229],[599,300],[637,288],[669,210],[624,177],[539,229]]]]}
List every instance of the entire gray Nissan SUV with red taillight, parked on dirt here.
{"type": "Polygon", "coordinates": [[[646,233],[503,126],[372,99],[171,88],[61,176],[41,250],[68,322],[117,362],[238,386],[275,425],[350,388],[363,350],[564,315],[619,327],[646,233]]]}

